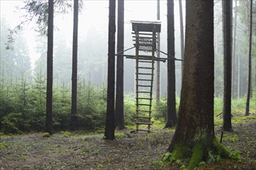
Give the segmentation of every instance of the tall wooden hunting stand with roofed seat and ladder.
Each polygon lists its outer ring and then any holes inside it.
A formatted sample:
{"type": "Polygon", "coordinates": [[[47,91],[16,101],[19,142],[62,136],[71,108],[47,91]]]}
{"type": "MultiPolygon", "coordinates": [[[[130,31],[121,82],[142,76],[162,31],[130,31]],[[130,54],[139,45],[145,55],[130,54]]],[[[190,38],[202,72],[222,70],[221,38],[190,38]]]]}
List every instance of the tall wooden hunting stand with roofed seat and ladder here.
{"type": "MultiPolygon", "coordinates": [[[[126,56],[129,59],[136,59],[136,131],[150,132],[151,113],[152,113],[152,94],[153,94],[153,81],[154,81],[154,62],[165,62],[167,59],[175,59],[172,56],[168,58],[157,58],[155,53],[161,52],[156,49],[157,32],[161,32],[161,22],[142,22],[131,21],[132,35],[135,42],[132,48],[136,49],[135,56],[126,56]]],[[[126,49],[123,52],[130,50],[126,49]]],[[[168,56],[167,53],[164,53],[168,56]]],[[[178,59],[177,59],[178,60],[178,59]]]]}

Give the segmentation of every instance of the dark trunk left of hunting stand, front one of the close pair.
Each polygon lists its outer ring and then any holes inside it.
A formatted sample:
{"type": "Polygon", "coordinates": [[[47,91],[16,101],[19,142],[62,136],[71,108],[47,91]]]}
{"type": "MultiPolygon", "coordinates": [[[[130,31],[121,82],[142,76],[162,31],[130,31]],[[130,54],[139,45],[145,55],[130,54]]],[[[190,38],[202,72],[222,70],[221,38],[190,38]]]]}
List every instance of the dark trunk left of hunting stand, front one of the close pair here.
{"type": "Polygon", "coordinates": [[[105,138],[115,139],[115,34],[116,0],[109,0],[108,89],[105,138]]]}

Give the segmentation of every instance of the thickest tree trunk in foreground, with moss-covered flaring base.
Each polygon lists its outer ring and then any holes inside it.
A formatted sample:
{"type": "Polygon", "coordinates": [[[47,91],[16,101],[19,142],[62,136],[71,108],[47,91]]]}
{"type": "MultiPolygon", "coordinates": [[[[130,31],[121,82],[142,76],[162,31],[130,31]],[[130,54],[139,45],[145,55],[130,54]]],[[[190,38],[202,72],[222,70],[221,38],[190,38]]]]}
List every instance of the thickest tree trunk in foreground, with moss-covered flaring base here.
{"type": "Polygon", "coordinates": [[[227,153],[214,135],[213,0],[187,1],[185,18],[181,103],[168,151],[173,160],[190,158],[192,169],[207,158],[209,151],[222,156],[227,153]]]}

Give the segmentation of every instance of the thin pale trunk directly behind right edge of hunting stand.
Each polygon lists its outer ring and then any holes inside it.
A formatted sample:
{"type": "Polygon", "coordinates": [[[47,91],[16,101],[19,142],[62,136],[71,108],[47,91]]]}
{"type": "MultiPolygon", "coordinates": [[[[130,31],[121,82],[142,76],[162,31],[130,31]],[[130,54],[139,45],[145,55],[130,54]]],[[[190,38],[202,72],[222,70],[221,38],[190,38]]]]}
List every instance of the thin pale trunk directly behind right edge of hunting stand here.
{"type": "MultiPolygon", "coordinates": [[[[160,20],[160,0],[157,0],[157,20],[160,20]]],[[[157,32],[157,49],[160,50],[160,32],[157,32]]],[[[157,57],[160,58],[160,52],[157,51],[157,57]]],[[[160,100],[160,61],[157,61],[157,93],[156,102],[157,106],[160,100]]]]}

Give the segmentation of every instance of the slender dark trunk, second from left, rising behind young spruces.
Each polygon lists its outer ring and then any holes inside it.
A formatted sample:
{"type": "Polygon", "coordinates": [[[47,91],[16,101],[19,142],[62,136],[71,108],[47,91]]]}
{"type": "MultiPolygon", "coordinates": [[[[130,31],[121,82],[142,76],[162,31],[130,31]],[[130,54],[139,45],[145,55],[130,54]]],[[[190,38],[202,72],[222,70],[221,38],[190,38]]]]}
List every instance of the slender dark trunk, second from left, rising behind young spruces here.
{"type": "Polygon", "coordinates": [[[74,22],[73,22],[73,53],[72,53],[72,97],[71,97],[71,130],[77,128],[78,112],[78,0],[74,0],[74,22]]]}

